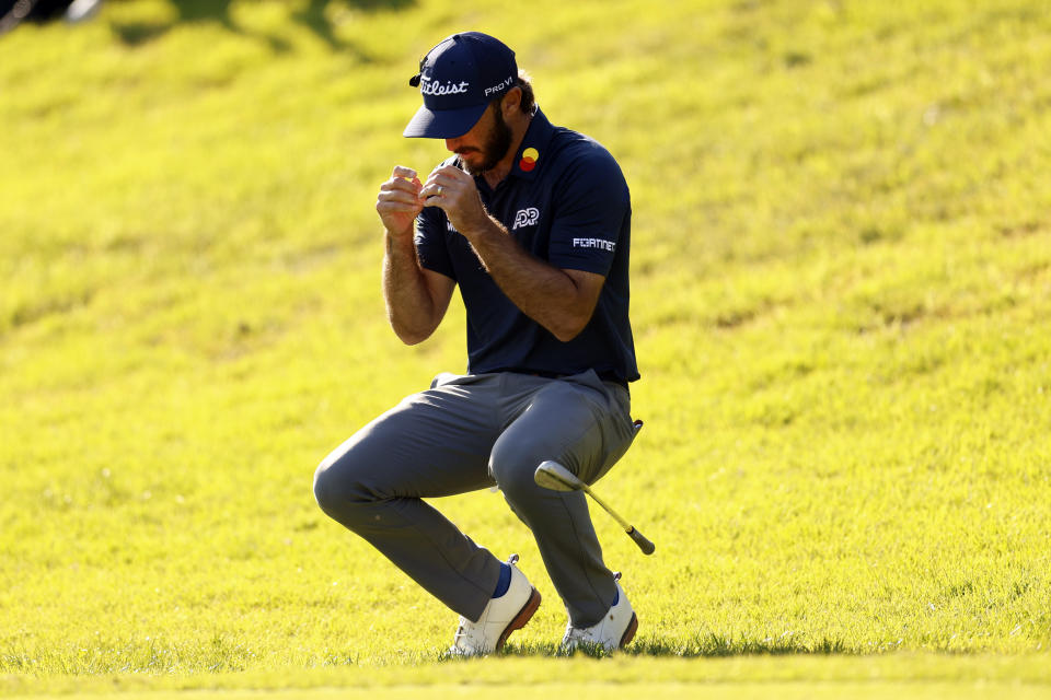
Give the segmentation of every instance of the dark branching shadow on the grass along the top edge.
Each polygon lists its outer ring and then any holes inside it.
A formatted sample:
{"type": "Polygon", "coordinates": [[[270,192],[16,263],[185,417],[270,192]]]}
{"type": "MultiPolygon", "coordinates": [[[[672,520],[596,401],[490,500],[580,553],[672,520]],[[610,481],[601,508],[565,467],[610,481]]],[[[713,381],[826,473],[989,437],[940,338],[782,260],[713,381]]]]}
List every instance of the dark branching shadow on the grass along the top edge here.
{"type": "MultiPolygon", "coordinates": [[[[172,21],[113,23],[114,33],[128,46],[151,42],[184,23],[215,23],[234,34],[249,34],[231,16],[231,0],[169,0],[169,2],[176,12],[172,21]]],[[[348,50],[353,47],[336,36],[335,25],[328,19],[330,7],[336,10],[380,12],[403,10],[415,2],[416,0],[309,0],[304,8],[291,13],[291,20],[309,28],[333,50],[348,50]]],[[[258,38],[267,42],[275,52],[285,52],[290,49],[288,42],[280,37],[263,35],[258,38]]]]}

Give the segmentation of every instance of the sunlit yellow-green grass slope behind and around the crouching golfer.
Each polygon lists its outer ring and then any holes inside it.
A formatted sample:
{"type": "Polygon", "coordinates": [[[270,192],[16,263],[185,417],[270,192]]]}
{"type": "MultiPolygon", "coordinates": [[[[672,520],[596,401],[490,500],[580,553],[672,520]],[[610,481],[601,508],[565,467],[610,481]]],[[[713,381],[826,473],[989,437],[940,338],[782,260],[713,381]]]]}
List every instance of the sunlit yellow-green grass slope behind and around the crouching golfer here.
{"type": "Polygon", "coordinates": [[[873,665],[874,693],[1047,692],[1046,3],[180,7],[0,37],[0,692],[570,668],[820,697],[873,665]],[[461,666],[454,616],[311,494],[465,364],[455,303],[421,346],[386,328],[373,210],[443,156],[400,135],[460,28],[633,191],[647,425],[599,486],[658,549],[596,511],[642,622],[615,660],[552,658],[564,611],[501,498],[439,506],[544,604],[461,666]]]}

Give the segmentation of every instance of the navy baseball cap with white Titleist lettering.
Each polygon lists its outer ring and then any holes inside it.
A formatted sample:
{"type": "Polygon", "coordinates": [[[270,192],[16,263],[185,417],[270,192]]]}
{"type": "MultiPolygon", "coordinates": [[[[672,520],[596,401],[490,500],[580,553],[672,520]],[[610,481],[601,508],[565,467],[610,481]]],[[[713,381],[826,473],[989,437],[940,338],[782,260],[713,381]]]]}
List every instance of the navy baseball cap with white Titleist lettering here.
{"type": "Polygon", "coordinates": [[[403,136],[454,139],[471,130],[494,97],[515,84],[515,51],[481,32],[453,34],[419,61],[408,81],[419,85],[424,105],[403,136]]]}

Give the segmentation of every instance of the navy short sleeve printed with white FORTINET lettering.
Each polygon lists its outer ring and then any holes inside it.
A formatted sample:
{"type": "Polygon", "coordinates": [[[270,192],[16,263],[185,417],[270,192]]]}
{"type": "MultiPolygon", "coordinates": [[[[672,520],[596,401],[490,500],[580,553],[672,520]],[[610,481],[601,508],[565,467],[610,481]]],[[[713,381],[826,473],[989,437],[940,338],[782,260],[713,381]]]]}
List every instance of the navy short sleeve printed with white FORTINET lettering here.
{"type": "Polygon", "coordinates": [[[616,161],[592,143],[555,188],[547,259],[557,268],[609,275],[631,214],[627,183],[616,161]]]}

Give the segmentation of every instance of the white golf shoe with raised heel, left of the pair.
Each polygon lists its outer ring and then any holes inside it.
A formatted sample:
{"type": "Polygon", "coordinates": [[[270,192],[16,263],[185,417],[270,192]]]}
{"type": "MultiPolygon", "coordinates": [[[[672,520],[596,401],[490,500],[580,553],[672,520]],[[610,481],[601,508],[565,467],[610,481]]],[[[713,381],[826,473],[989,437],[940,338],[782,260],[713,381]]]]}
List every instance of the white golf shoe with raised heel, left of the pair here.
{"type": "Polygon", "coordinates": [[[529,583],[515,563],[518,555],[511,555],[511,583],[498,598],[489,598],[477,620],[460,617],[460,627],[452,638],[449,653],[453,656],[481,656],[500,651],[508,635],[526,627],[540,607],[540,592],[529,583]]]}

